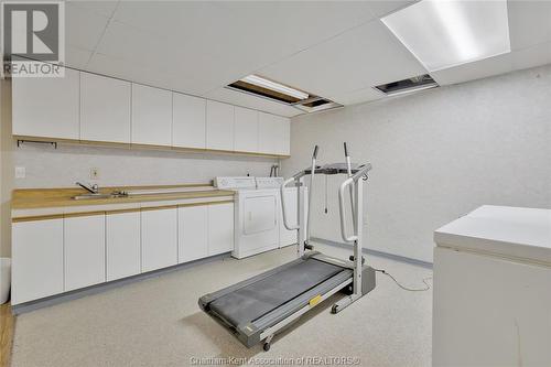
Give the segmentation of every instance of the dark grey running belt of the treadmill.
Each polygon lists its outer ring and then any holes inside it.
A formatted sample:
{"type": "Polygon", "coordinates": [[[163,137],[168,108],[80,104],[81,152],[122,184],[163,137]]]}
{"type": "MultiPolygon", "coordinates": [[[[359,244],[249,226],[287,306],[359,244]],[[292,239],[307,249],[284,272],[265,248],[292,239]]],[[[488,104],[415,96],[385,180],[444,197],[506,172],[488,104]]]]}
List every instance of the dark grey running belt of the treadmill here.
{"type": "Polygon", "coordinates": [[[343,270],[310,258],[216,299],[209,309],[235,326],[252,322],[343,270]]]}

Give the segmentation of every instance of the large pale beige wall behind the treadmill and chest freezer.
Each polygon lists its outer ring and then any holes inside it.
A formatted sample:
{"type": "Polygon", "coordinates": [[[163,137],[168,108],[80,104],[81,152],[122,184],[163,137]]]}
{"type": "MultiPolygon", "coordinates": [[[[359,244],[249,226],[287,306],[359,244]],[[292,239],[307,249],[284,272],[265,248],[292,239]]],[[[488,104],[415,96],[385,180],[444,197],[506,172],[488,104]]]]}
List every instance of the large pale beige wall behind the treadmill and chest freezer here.
{"type": "MultiPolygon", "coordinates": [[[[432,261],[433,230],[483,204],[551,208],[551,65],[291,121],[290,175],[310,162],[371,162],[368,248],[432,261]]],[[[316,181],[312,235],[342,241],[337,185],[316,181]]]]}

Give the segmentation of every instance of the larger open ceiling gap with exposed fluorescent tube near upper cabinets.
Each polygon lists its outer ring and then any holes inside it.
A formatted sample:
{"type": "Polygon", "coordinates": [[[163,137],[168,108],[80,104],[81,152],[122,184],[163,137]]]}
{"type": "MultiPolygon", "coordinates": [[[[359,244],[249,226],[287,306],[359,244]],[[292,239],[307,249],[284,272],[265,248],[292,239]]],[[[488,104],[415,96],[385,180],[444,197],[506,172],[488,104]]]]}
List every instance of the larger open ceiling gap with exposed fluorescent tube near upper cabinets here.
{"type": "Polygon", "coordinates": [[[258,75],[249,75],[231,83],[226,88],[274,100],[309,114],[342,107],[342,105],[327,98],[318,97],[258,75]]]}

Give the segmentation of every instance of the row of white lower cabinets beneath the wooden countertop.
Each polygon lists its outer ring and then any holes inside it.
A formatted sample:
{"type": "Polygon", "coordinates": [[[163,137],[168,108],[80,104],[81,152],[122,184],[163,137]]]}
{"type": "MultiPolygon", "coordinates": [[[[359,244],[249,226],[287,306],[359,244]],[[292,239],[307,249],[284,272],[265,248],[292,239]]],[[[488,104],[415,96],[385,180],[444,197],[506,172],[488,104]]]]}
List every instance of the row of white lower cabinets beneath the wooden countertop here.
{"type": "Polygon", "coordinates": [[[234,203],[12,225],[12,304],[234,250],[234,203]]]}

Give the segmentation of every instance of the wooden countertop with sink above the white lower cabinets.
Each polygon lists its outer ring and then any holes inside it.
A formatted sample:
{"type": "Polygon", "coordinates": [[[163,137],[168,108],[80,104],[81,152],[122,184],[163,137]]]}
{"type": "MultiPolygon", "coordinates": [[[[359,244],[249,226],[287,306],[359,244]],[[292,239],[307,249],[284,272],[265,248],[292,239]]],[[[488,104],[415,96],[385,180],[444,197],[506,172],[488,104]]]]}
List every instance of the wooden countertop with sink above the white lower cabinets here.
{"type": "Polygon", "coordinates": [[[128,197],[87,199],[72,198],[75,195],[86,194],[86,191],[82,188],[22,188],[13,191],[11,208],[33,209],[234,196],[233,191],[215,190],[213,186],[207,184],[104,187],[100,192],[108,194],[112,191],[162,190],[177,187],[182,187],[184,191],[177,193],[138,194],[128,197]]]}

